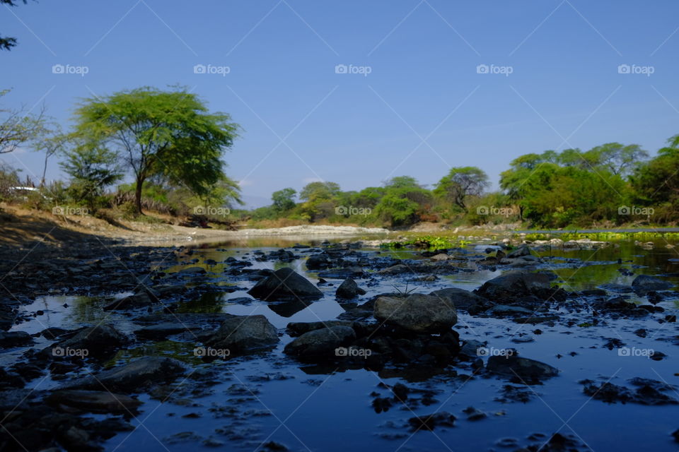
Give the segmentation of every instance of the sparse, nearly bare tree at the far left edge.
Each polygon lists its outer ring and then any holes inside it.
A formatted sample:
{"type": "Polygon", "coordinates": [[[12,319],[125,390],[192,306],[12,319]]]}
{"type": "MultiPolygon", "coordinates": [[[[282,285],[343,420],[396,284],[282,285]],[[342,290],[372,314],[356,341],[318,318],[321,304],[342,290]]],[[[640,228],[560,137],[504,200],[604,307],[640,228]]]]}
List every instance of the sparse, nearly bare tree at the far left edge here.
{"type": "MultiPolygon", "coordinates": [[[[0,90],[0,97],[9,91],[0,90]]],[[[45,107],[42,107],[38,114],[30,114],[24,107],[0,108],[0,117],[0,154],[11,153],[20,145],[46,133],[45,107]]]]}

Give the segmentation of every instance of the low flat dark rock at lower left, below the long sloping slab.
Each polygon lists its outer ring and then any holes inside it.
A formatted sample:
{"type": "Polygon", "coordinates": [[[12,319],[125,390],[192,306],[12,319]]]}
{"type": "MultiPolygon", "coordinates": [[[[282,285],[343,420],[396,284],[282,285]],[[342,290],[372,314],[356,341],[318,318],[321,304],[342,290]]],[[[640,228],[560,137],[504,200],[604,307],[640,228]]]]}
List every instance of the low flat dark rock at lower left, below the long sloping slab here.
{"type": "Polygon", "coordinates": [[[136,410],[141,405],[136,398],[122,394],[78,389],[54,391],[45,400],[53,406],[65,405],[88,412],[121,412],[124,414],[136,410]]]}

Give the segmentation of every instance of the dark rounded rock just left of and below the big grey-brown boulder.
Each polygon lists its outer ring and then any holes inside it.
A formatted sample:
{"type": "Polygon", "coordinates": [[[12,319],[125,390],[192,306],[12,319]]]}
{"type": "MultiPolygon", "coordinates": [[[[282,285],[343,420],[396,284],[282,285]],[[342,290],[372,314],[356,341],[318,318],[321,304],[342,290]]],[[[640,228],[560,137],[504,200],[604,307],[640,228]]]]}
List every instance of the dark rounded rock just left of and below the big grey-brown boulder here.
{"type": "Polygon", "coordinates": [[[325,357],[335,359],[337,347],[349,345],[356,339],[356,333],[349,326],[332,326],[309,331],[285,346],[286,355],[296,357],[325,357]]]}

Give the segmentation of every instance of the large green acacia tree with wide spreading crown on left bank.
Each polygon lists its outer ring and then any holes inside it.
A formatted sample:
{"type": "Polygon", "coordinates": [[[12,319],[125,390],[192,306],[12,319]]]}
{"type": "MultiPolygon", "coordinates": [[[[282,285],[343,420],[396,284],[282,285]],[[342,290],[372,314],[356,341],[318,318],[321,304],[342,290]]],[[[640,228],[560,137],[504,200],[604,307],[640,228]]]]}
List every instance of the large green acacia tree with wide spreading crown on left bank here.
{"type": "Polygon", "coordinates": [[[75,136],[110,149],[132,171],[139,213],[149,177],[209,196],[226,177],[221,157],[240,129],[228,114],[209,113],[185,89],[143,87],[89,98],[76,109],[75,119],[75,136]]]}

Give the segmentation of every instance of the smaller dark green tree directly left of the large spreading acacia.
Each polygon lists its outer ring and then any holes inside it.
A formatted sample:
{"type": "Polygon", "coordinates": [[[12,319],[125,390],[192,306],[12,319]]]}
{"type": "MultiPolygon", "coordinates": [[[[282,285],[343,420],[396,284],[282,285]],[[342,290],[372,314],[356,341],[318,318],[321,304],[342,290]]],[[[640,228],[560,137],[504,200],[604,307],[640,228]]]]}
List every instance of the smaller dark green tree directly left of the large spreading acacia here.
{"type": "Polygon", "coordinates": [[[97,143],[81,142],[64,152],[66,160],[59,165],[71,176],[69,191],[77,201],[95,207],[105,187],[122,179],[117,156],[97,143]]]}

